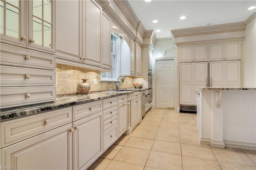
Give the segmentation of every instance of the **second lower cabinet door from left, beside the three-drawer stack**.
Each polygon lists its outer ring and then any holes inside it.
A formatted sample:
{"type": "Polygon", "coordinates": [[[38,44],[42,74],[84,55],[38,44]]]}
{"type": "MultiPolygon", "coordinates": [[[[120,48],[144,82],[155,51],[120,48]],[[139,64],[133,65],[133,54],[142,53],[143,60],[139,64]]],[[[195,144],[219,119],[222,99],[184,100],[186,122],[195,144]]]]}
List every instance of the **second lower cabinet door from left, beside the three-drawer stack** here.
{"type": "Polygon", "coordinates": [[[102,112],[73,122],[74,169],[88,168],[102,153],[102,112]]]}

